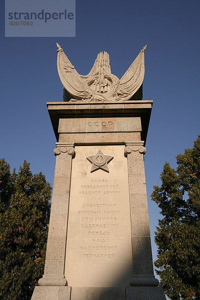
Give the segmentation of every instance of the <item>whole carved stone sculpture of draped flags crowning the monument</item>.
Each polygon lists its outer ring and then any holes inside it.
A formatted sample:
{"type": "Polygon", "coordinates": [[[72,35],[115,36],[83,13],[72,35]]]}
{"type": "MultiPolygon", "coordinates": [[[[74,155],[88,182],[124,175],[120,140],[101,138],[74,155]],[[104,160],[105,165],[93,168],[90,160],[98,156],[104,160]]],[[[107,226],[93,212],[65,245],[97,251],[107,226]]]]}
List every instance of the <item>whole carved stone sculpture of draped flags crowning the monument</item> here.
{"type": "Polygon", "coordinates": [[[87,75],[80,75],[57,44],[57,70],[63,84],[63,99],[87,101],[141,100],[146,45],[119,80],[111,74],[109,55],[98,53],[87,75]]]}

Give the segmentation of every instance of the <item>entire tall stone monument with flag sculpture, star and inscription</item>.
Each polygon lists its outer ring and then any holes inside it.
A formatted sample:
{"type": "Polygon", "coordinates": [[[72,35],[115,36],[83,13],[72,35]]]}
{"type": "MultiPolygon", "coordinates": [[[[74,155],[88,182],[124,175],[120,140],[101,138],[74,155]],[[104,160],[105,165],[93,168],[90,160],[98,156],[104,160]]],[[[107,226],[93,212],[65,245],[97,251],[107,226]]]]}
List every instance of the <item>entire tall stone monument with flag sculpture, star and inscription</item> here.
{"type": "Polygon", "coordinates": [[[151,100],[144,50],[119,80],[100,52],[80,75],[57,44],[63,102],[44,275],[32,300],[164,300],[153,275],[143,155],[151,100]]]}

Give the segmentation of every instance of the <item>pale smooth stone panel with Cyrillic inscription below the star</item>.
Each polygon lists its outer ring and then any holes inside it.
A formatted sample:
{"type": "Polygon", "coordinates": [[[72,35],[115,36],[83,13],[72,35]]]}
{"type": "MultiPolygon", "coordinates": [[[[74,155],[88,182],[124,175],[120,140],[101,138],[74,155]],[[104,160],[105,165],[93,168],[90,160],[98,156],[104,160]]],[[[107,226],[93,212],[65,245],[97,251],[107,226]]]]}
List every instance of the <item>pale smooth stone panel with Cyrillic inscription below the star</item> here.
{"type": "Polygon", "coordinates": [[[70,286],[124,287],[132,277],[127,160],[122,145],[76,146],[72,160],[65,278],[70,286]],[[109,172],[86,159],[113,156],[109,172]]]}

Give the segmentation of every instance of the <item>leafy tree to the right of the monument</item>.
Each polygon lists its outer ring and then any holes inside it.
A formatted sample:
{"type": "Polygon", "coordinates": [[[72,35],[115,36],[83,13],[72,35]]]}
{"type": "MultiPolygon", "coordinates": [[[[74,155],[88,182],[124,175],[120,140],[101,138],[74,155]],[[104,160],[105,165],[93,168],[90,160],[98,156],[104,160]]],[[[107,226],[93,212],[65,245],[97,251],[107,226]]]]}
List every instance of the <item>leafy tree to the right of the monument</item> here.
{"type": "Polygon", "coordinates": [[[161,209],[155,242],[156,273],[172,300],[200,299],[200,135],[191,149],[165,162],[161,186],[151,195],[161,209]]]}

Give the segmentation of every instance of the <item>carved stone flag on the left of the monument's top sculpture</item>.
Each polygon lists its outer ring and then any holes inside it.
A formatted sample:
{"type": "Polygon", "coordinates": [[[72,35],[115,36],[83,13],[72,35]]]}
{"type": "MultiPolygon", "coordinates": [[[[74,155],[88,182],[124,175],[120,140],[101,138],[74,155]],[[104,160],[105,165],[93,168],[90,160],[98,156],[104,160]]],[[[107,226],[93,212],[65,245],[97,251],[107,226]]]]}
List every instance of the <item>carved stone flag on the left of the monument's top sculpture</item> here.
{"type": "Polygon", "coordinates": [[[64,88],[75,99],[92,99],[93,93],[57,44],[57,70],[64,88]]]}

